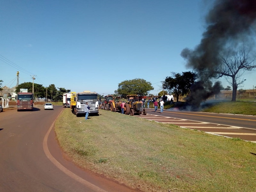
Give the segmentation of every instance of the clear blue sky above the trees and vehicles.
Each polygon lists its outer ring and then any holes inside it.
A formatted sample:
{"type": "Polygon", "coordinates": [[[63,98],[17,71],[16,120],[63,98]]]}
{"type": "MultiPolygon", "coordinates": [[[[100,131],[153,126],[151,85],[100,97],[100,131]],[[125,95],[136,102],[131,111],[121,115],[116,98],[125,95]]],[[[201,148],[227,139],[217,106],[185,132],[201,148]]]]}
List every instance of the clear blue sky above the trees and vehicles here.
{"type": "MultiPolygon", "coordinates": [[[[186,68],[180,52],[200,43],[204,0],[0,0],[0,79],[112,94],[142,78],[154,90],[186,68]]],[[[255,71],[243,89],[252,89],[255,71]]],[[[226,87],[228,84],[222,80],[226,87]]]]}

